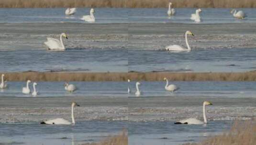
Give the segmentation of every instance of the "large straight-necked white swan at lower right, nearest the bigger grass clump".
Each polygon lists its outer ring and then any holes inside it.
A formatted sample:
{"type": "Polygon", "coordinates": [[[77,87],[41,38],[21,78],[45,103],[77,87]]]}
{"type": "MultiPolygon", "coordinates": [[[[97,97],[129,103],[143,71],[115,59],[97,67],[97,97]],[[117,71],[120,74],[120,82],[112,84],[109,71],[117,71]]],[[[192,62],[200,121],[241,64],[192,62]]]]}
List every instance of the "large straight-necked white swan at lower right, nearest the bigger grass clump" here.
{"type": "Polygon", "coordinates": [[[196,125],[207,124],[208,122],[207,122],[207,118],[206,118],[206,114],[205,114],[205,105],[212,105],[212,104],[208,101],[203,102],[203,122],[198,119],[195,119],[195,118],[189,118],[189,119],[185,119],[185,120],[180,120],[174,124],[196,124],[196,125]]]}

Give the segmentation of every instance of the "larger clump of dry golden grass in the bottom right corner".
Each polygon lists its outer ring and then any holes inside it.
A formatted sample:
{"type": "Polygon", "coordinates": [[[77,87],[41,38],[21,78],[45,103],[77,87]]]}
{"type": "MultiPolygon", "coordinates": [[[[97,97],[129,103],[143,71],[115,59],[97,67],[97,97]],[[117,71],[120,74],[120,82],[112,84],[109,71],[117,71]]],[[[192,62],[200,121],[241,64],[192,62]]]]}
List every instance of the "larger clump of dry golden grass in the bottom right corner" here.
{"type": "Polygon", "coordinates": [[[256,145],[256,122],[236,122],[223,135],[209,137],[201,143],[184,145],[256,145]]]}

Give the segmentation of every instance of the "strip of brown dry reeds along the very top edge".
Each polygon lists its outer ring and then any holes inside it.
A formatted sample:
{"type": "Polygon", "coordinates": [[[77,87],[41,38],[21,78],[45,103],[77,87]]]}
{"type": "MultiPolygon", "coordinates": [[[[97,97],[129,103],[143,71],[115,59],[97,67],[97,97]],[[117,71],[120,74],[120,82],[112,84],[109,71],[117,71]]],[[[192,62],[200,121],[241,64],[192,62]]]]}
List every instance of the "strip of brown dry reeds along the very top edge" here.
{"type": "Polygon", "coordinates": [[[171,1],[184,8],[255,8],[256,0],[0,0],[2,8],[111,7],[164,8],[171,1]]]}

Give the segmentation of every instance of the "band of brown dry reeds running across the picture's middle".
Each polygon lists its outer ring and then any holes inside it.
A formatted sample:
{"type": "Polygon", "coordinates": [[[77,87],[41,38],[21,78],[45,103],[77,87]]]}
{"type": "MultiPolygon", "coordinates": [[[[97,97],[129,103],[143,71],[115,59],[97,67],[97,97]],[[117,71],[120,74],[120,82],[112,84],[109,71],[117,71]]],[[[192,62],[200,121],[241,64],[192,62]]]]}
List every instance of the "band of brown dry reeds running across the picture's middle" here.
{"type": "Polygon", "coordinates": [[[256,81],[256,73],[4,73],[8,81],[256,81]]]}

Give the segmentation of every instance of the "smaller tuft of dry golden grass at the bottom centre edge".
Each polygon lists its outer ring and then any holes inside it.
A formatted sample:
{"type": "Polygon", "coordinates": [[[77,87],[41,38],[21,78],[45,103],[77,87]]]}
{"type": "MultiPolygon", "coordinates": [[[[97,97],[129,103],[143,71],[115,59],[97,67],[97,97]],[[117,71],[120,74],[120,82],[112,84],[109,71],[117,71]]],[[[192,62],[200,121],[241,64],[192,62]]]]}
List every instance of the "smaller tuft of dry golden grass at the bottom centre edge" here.
{"type": "Polygon", "coordinates": [[[83,145],[128,145],[128,132],[126,129],[123,129],[120,135],[110,136],[99,143],[88,143],[83,145]]]}

